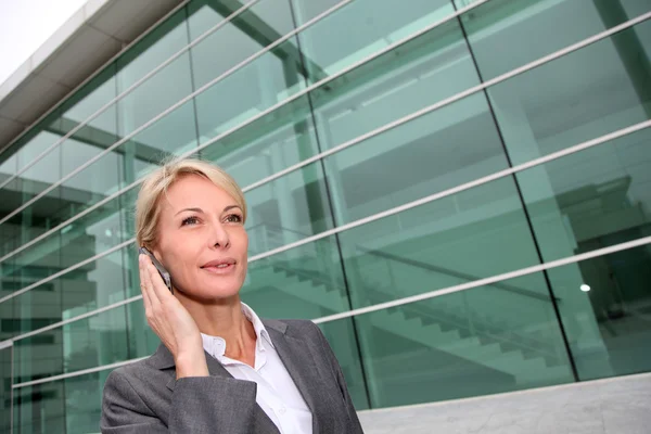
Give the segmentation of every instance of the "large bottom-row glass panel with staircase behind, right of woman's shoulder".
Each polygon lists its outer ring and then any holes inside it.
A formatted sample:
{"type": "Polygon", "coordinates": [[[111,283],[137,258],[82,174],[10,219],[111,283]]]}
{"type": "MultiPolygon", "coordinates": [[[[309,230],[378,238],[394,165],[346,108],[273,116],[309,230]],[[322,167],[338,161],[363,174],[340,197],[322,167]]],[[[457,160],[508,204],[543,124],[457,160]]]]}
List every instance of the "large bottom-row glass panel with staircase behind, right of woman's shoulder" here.
{"type": "Polygon", "coordinates": [[[371,406],[572,382],[546,294],[534,275],[356,317],[371,406]]]}

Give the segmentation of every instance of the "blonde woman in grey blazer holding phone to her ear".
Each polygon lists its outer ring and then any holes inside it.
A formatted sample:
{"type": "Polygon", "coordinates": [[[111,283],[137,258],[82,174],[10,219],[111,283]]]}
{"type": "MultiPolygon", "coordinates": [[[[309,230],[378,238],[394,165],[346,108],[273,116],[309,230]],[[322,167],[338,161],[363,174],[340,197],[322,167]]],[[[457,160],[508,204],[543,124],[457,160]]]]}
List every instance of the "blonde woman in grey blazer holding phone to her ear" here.
{"type": "Polygon", "coordinates": [[[196,159],[144,180],[138,244],[156,353],[113,371],[103,433],[361,433],[340,366],[311,321],[263,320],[240,301],[246,204],[234,180],[196,159]]]}

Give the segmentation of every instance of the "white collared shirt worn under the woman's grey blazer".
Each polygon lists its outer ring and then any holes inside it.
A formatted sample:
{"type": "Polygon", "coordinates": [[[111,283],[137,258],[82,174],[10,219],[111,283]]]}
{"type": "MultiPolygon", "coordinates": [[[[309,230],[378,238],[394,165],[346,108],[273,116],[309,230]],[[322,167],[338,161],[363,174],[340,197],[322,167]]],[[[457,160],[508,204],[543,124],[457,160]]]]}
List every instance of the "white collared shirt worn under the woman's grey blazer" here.
{"type": "Polygon", "coordinates": [[[311,412],[298,387],[271,342],[263,321],[251,307],[242,303],[242,312],[253,323],[256,334],[255,367],[225,356],[226,341],[219,336],[201,334],[203,347],[217,359],[233,378],[257,384],[256,403],[273,421],[281,434],[311,434],[311,412]]]}

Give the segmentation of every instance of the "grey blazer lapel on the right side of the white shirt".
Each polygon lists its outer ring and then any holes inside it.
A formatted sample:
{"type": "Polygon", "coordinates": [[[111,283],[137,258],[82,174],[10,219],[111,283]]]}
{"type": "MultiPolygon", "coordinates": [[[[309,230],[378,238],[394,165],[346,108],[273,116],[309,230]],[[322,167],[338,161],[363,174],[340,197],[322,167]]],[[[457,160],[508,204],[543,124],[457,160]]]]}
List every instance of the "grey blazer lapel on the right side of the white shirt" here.
{"type": "Polygon", "coordinates": [[[323,411],[323,401],[327,400],[327,397],[322,396],[321,391],[326,388],[315,362],[311,344],[288,335],[284,322],[275,320],[264,320],[263,322],[271,336],[278,356],[312,413],[312,433],[333,432],[334,421],[328,411],[323,411]]]}

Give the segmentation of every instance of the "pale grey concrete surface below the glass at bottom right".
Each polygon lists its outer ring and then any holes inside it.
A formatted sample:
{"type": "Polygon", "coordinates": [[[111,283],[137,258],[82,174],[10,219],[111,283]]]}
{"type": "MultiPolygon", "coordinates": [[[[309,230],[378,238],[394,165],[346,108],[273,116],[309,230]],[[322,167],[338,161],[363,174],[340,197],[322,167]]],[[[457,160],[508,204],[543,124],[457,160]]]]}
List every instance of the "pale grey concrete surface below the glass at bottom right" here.
{"type": "Polygon", "coordinates": [[[368,434],[651,434],[651,373],[360,411],[368,434]]]}

